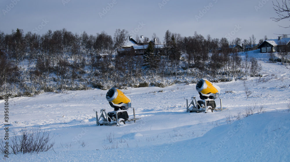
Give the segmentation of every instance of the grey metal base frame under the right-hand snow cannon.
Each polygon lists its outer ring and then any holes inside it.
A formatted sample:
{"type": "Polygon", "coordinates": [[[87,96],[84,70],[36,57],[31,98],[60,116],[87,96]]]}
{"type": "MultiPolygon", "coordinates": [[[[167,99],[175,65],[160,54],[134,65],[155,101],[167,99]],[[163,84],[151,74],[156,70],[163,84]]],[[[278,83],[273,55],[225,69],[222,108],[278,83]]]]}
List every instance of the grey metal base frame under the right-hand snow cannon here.
{"type": "MultiPolygon", "coordinates": [[[[185,98],[184,98],[185,99],[185,98]]],[[[222,99],[220,99],[220,108],[219,109],[213,109],[213,108],[209,108],[209,107],[207,107],[206,106],[206,101],[209,101],[209,99],[205,99],[205,100],[202,100],[203,101],[203,105],[200,105],[197,101],[196,101],[196,99],[195,99],[195,97],[191,97],[191,102],[190,102],[190,104],[188,105],[188,100],[187,99],[185,99],[186,100],[186,112],[204,112],[204,113],[207,113],[208,111],[212,111],[213,112],[213,110],[215,110],[215,111],[218,111],[218,110],[220,110],[220,111],[222,111],[222,110],[226,110],[226,109],[223,109],[222,108],[222,99]],[[194,103],[194,101],[195,101],[195,103],[194,103]],[[191,106],[191,105],[193,105],[193,109],[190,109],[189,110],[189,107],[191,106]],[[197,105],[200,107],[200,109],[197,109],[197,105]]]]}

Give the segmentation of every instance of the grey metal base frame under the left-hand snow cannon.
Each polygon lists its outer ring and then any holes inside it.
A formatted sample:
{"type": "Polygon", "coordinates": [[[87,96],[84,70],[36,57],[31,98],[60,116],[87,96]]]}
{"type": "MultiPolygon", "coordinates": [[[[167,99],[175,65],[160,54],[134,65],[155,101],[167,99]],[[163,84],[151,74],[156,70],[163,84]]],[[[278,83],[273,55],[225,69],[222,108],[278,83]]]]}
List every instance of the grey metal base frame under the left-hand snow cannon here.
{"type": "MultiPolygon", "coordinates": [[[[99,118],[98,118],[98,112],[95,111],[96,112],[97,126],[98,125],[108,125],[108,126],[115,126],[116,125],[116,126],[120,126],[117,114],[118,114],[118,112],[122,112],[122,111],[126,111],[126,110],[112,111],[112,112],[115,112],[115,115],[116,115],[115,118],[113,117],[113,119],[110,118],[110,116],[108,116],[108,114],[106,113],[106,109],[101,109],[101,116],[99,118]],[[101,118],[104,119],[103,123],[99,122],[101,118]],[[108,121],[108,118],[110,118],[111,122],[108,121]],[[112,123],[112,121],[113,121],[113,123],[112,123]]],[[[134,123],[136,123],[136,120],[140,119],[140,118],[136,118],[136,116],[135,116],[135,108],[133,108],[133,114],[134,114],[134,118],[130,119],[130,120],[126,120],[126,121],[129,121],[129,122],[130,121],[134,121],[134,123]]]]}

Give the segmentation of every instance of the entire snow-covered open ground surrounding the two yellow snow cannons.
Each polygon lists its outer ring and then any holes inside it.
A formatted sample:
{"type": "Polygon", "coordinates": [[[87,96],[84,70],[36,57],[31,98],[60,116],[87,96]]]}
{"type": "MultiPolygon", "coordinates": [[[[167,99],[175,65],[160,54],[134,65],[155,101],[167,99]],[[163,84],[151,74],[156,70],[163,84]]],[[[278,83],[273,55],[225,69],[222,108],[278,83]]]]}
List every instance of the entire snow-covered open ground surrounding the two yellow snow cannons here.
{"type": "MultiPolygon", "coordinates": [[[[257,50],[249,55],[262,64],[263,77],[217,83],[225,111],[186,113],[184,98],[199,98],[195,84],[122,90],[141,119],[120,127],[96,126],[94,109],[113,111],[100,89],[9,99],[11,135],[40,125],[54,135],[55,152],[10,154],[6,161],[288,161],[290,71],[267,63],[267,54],[257,50]],[[248,99],[245,86],[253,92],[248,99]],[[244,118],[255,105],[266,112],[244,118]],[[111,147],[118,148],[105,149],[111,147]]],[[[133,118],[133,110],[128,113],[133,118]]],[[[0,116],[3,138],[3,111],[0,116]]]]}

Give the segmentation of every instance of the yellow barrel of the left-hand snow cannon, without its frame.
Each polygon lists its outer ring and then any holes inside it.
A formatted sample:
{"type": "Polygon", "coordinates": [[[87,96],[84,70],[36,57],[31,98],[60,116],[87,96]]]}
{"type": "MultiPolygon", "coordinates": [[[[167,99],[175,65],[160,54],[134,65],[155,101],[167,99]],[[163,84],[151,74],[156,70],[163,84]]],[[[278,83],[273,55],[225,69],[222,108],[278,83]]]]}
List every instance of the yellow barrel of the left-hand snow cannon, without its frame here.
{"type": "Polygon", "coordinates": [[[122,91],[117,88],[111,88],[106,94],[106,99],[109,101],[111,107],[115,111],[128,110],[131,107],[132,99],[131,97],[125,95],[122,91]]]}

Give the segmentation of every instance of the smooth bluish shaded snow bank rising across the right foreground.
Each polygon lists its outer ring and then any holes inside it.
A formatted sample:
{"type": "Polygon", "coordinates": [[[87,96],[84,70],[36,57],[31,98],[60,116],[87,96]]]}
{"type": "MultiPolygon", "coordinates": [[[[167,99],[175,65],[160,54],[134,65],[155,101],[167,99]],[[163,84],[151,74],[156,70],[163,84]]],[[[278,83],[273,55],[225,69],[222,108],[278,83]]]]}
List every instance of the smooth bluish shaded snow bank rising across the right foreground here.
{"type": "Polygon", "coordinates": [[[172,138],[157,146],[19,154],[8,161],[288,161],[289,130],[290,113],[267,112],[180,142],[172,138]]]}

